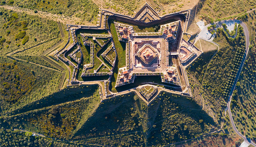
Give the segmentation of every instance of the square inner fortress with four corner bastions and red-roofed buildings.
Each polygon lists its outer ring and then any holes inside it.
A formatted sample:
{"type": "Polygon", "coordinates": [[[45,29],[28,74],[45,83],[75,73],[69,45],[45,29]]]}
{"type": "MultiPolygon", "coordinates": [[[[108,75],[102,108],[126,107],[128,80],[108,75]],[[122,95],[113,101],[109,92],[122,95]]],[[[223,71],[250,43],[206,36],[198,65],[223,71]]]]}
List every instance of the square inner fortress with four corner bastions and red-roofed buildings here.
{"type": "Polygon", "coordinates": [[[180,20],[161,25],[158,32],[144,33],[136,33],[130,25],[114,24],[119,41],[126,43],[126,64],[119,68],[115,87],[133,83],[135,77],[151,75],[180,86],[177,67],[169,61],[169,44],[176,42],[180,20]]]}

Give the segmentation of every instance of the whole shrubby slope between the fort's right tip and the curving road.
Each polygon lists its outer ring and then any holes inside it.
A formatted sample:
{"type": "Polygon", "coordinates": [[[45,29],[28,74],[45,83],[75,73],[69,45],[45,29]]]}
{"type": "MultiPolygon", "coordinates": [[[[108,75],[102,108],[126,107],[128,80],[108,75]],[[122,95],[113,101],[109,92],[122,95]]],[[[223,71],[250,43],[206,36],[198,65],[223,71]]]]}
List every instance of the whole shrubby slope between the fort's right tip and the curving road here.
{"type": "Polygon", "coordinates": [[[188,67],[188,78],[194,99],[204,104],[206,112],[212,113],[214,120],[220,123],[226,122],[226,101],[245,53],[243,28],[238,26],[234,39],[228,38],[224,30],[217,29],[214,42],[220,44],[220,50],[211,61],[211,57],[204,57],[204,54],[199,57],[197,62],[188,67]]]}

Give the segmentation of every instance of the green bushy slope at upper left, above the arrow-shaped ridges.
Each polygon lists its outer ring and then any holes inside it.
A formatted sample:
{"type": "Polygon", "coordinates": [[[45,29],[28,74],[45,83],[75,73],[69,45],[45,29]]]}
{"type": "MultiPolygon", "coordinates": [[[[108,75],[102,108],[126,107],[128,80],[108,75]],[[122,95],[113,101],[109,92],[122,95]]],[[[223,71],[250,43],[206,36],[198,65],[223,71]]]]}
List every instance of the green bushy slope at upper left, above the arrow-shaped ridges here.
{"type": "MultiPolygon", "coordinates": [[[[59,36],[55,21],[4,8],[0,8],[0,12],[2,14],[0,15],[0,54],[2,55],[20,48],[27,49],[59,36]]],[[[40,52],[46,49],[41,48],[40,52]]]]}

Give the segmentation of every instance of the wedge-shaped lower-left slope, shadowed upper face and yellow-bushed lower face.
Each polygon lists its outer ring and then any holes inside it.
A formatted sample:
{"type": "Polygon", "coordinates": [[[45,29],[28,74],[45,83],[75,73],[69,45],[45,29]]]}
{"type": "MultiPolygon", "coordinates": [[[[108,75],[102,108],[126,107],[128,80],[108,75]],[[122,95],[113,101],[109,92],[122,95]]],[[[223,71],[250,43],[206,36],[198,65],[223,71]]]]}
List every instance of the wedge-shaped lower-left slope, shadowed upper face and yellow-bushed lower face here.
{"type": "Polygon", "coordinates": [[[99,106],[97,88],[92,85],[63,89],[61,94],[24,106],[19,110],[21,113],[5,119],[12,128],[21,127],[46,136],[69,139],[99,106]]]}

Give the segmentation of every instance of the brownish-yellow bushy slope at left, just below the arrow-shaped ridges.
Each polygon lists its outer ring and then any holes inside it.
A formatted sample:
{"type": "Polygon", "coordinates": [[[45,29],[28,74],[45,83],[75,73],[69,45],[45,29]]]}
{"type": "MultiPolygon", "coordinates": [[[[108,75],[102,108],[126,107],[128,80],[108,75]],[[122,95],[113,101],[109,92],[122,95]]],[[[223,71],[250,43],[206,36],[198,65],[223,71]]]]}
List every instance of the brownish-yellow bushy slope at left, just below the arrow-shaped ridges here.
{"type": "Polygon", "coordinates": [[[6,60],[0,63],[2,111],[11,111],[57,89],[60,73],[9,59],[1,60],[6,60]]]}

